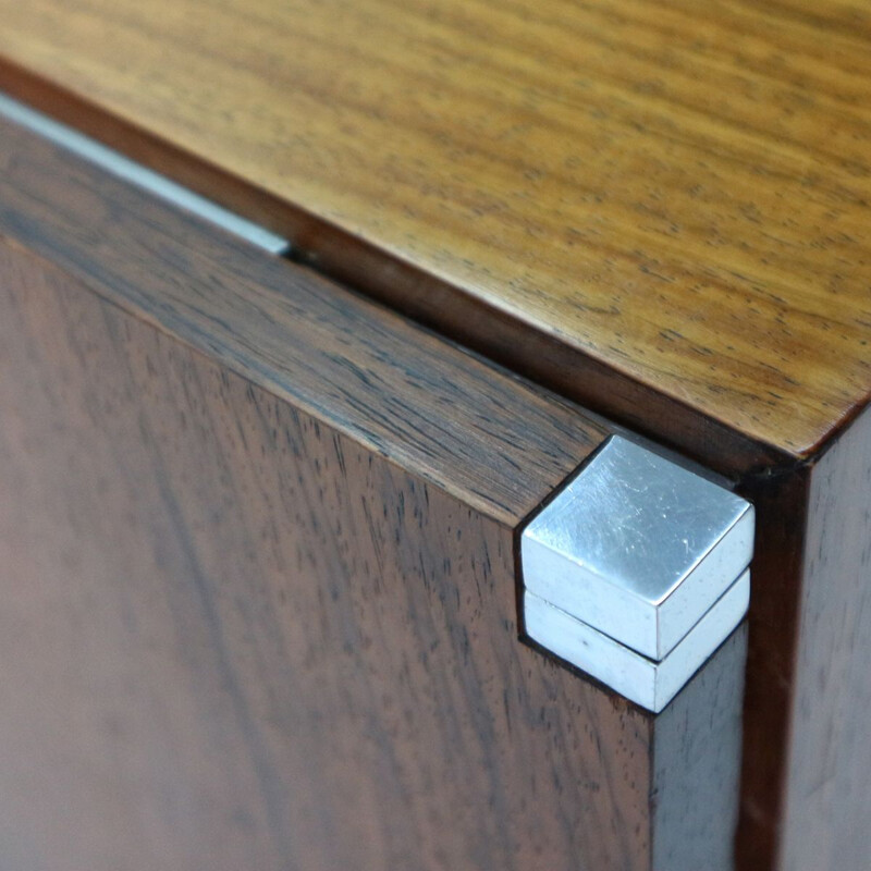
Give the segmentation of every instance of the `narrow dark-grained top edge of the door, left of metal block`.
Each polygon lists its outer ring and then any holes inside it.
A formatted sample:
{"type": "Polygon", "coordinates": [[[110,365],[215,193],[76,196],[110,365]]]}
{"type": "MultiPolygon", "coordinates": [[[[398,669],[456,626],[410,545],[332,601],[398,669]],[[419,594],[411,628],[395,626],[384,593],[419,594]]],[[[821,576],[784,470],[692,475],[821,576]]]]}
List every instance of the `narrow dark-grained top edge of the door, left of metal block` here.
{"type": "Polygon", "coordinates": [[[514,526],[608,434],[581,409],[0,122],[0,233],[514,526]]]}

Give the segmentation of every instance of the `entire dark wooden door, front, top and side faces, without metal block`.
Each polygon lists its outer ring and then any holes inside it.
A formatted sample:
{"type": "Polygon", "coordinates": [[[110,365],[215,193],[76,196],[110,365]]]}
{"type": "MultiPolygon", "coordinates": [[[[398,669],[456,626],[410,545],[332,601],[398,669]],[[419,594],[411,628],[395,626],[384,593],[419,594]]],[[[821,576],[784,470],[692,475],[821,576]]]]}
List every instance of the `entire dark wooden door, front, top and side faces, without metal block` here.
{"type": "Polygon", "coordinates": [[[0,123],[0,867],[728,871],[736,633],[525,646],[579,409],[0,123]]]}

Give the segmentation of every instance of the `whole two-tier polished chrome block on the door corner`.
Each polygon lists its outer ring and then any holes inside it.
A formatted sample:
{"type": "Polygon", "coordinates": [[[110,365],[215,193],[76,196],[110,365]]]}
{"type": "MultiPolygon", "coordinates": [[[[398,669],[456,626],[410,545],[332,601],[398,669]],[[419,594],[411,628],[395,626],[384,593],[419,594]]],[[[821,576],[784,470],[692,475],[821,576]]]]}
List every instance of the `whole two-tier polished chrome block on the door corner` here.
{"type": "Polygon", "coordinates": [[[536,642],[659,712],[747,612],[753,506],[613,436],[524,529],[536,642]]]}

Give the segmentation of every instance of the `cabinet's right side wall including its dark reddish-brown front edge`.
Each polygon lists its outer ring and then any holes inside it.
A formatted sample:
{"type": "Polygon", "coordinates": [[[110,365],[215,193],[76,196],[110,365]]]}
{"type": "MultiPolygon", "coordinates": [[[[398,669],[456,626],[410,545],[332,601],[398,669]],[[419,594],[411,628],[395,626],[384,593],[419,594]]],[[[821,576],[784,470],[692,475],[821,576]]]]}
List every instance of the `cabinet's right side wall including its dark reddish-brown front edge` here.
{"type": "Polygon", "coordinates": [[[753,562],[739,868],[867,864],[870,420],[863,413],[817,462],[744,484],[762,547],[753,562]]]}

